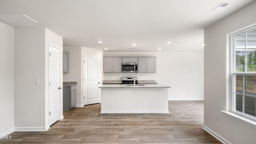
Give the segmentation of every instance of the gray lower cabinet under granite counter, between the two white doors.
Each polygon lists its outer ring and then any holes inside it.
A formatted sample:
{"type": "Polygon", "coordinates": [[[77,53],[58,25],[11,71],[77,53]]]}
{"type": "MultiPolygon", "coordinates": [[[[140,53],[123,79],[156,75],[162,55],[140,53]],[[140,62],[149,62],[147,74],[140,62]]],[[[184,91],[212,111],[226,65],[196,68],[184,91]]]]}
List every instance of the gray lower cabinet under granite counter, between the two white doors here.
{"type": "Polygon", "coordinates": [[[63,87],[63,110],[71,110],[76,105],[76,86],[63,87]]]}

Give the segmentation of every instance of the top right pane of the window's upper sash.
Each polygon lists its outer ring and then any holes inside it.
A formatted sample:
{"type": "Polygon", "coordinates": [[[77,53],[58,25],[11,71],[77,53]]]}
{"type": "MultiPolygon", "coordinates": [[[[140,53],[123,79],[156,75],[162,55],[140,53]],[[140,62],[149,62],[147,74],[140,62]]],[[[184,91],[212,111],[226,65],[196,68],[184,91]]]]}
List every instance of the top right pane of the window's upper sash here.
{"type": "Polygon", "coordinates": [[[256,30],[247,32],[246,51],[256,50],[256,30]]]}

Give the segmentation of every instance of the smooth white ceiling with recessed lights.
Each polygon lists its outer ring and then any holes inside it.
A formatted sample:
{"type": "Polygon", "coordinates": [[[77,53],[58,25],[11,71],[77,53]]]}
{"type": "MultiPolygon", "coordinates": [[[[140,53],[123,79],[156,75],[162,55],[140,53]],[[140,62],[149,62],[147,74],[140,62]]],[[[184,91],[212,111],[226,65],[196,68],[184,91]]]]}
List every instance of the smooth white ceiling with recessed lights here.
{"type": "Polygon", "coordinates": [[[64,46],[108,48],[104,51],[203,51],[204,28],[254,1],[0,0],[0,14],[24,14],[38,23],[0,22],[47,28],[63,37],[64,46]],[[232,4],[212,11],[222,2],[232,4]],[[134,43],[137,45],[132,46],[134,43]],[[134,47],[137,49],[129,49],[134,47]]]}

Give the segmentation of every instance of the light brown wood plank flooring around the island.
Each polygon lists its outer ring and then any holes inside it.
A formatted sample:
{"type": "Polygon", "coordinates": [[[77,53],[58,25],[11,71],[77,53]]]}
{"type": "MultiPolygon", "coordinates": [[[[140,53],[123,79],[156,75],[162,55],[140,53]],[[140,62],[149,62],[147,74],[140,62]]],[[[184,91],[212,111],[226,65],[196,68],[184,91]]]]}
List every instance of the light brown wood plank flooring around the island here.
{"type": "Polygon", "coordinates": [[[169,101],[169,114],[100,114],[100,104],[64,111],[46,132],[13,132],[17,143],[220,144],[202,129],[203,101],[169,101]]]}

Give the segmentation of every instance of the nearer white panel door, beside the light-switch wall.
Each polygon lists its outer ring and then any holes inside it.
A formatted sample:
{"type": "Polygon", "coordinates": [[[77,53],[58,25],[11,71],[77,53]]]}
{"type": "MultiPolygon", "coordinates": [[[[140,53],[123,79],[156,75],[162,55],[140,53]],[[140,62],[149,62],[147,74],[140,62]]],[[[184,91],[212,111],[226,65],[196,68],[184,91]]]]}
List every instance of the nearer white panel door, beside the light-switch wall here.
{"type": "Polygon", "coordinates": [[[60,120],[60,48],[49,45],[49,126],[60,120]]]}

